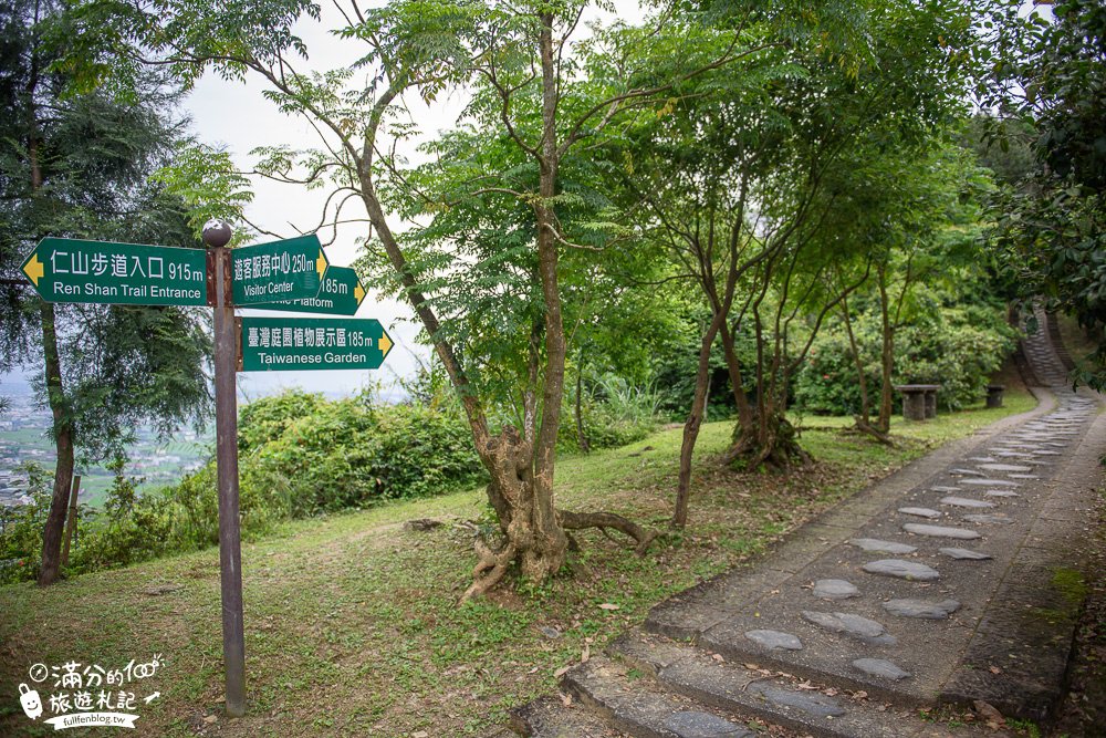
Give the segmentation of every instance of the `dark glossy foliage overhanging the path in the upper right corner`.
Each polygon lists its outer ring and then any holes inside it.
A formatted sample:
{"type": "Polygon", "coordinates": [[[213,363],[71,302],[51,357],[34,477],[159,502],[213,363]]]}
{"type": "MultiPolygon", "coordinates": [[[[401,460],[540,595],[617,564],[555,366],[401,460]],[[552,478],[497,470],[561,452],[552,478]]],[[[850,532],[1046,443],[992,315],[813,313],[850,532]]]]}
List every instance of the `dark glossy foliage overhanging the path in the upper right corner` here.
{"type": "MultiPolygon", "coordinates": [[[[992,134],[1035,132],[1027,175],[993,199],[991,242],[1014,294],[1046,298],[1082,325],[1106,325],[1106,9],[1061,0],[1051,13],[994,3],[998,52],[985,59],[980,95],[1014,117],[992,134]]],[[[1077,381],[1106,387],[1106,346],[1077,381]]]]}

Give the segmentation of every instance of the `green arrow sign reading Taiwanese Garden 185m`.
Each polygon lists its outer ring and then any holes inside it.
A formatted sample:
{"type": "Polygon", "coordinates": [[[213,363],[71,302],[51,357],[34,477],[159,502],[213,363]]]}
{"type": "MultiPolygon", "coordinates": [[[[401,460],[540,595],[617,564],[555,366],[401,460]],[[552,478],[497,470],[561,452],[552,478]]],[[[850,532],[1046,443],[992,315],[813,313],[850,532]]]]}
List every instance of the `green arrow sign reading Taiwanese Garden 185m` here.
{"type": "Polygon", "coordinates": [[[243,372],[380,368],[393,345],[373,319],[242,318],[243,372]]]}

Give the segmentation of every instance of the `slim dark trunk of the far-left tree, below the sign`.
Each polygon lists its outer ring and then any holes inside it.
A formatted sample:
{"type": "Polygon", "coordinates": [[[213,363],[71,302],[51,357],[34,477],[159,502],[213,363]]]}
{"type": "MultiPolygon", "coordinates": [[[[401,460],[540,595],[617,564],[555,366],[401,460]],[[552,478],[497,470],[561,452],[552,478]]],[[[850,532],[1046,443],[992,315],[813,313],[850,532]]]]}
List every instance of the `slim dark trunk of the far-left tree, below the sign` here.
{"type": "Polygon", "coordinates": [[[53,415],[54,491],[50,500],[50,514],[42,531],[42,569],[39,584],[45,586],[58,581],[61,570],[62,538],[65,530],[65,511],[69,508],[70,488],[73,485],[73,429],[65,408],[62,385],[61,356],[58,352],[58,332],[54,326],[54,306],[42,303],[42,354],[44,357],[46,397],[53,415]]]}

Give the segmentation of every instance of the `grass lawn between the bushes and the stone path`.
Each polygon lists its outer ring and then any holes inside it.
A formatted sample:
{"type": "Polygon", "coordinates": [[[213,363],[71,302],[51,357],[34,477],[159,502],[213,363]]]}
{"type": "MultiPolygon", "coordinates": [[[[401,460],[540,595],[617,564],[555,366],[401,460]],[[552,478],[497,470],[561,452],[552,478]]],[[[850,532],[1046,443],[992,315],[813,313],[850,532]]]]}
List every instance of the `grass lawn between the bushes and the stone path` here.
{"type": "MultiPolygon", "coordinates": [[[[220,706],[219,557],[209,550],[84,575],[46,590],[0,589],[0,735],[52,735],[19,707],[32,664],[124,668],[160,654],[134,690],[138,735],[463,736],[505,719],[508,708],[555,688],[578,663],[648,609],[740,564],[836,500],[947,440],[1035,401],[1008,392],[1006,407],[899,423],[888,448],[844,433],[844,419],[805,418],[816,462],[787,477],[737,474],[713,457],[732,424],[703,427],[690,523],[635,555],[599,532],[578,536],[572,571],[540,588],[502,589],[456,606],[474,563],[473,526],[486,524],[482,490],[396,502],[289,524],[242,549],[246,718],[220,706]],[[438,518],[426,532],[404,521],[438,518]],[[144,705],[142,698],[159,692],[144,705]],[[29,729],[30,728],[30,729],[29,729]]],[[[670,514],[680,430],[624,448],[562,458],[562,507],[606,509],[662,526],[670,514]]],[[[39,685],[52,715],[53,678],[39,685]]],[[[124,710],[125,711],[125,710],[124,710]]],[[[107,730],[71,729],[73,735],[107,730]]],[[[114,732],[112,734],[114,735],[114,732]]]]}

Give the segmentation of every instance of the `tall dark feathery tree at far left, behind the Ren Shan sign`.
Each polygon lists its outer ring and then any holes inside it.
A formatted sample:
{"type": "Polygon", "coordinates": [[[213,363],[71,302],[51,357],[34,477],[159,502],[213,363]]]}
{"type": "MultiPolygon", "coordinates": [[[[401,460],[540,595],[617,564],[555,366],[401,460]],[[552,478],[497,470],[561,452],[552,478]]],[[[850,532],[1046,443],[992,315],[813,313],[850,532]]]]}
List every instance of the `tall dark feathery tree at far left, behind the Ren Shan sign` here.
{"type": "Polygon", "coordinates": [[[171,98],[149,80],[126,102],[67,95],[72,76],[55,66],[66,22],[61,3],[46,0],[0,11],[0,365],[39,362],[58,457],[40,584],[60,573],[77,450],[119,454],[137,424],[171,430],[201,418],[209,399],[209,340],[195,314],[54,305],[19,277],[23,254],[44,236],[197,246],[179,200],[147,181],[175,135],[161,117],[171,98]]]}

